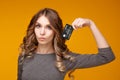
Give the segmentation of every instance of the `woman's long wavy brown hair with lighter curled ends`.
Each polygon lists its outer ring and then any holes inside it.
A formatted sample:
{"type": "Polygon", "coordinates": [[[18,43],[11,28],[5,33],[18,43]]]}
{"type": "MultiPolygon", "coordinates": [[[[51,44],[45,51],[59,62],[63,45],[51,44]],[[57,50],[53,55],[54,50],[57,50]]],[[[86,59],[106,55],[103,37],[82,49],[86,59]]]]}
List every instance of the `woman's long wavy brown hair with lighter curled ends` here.
{"type": "MultiPolygon", "coordinates": [[[[65,71],[65,65],[63,64],[63,58],[69,59],[70,61],[74,60],[74,57],[68,54],[69,49],[65,44],[65,39],[62,38],[62,31],[63,31],[63,23],[61,18],[59,17],[58,13],[50,8],[44,8],[36,13],[28,25],[27,33],[23,38],[23,43],[20,45],[22,58],[21,61],[23,62],[25,58],[30,58],[33,56],[33,52],[36,50],[38,46],[38,42],[34,33],[35,23],[39,17],[44,15],[52,25],[52,29],[55,32],[55,36],[53,39],[53,47],[56,54],[56,67],[59,71],[65,71]]],[[[69,74],[70,75],[70,74],[69,74]]]]}

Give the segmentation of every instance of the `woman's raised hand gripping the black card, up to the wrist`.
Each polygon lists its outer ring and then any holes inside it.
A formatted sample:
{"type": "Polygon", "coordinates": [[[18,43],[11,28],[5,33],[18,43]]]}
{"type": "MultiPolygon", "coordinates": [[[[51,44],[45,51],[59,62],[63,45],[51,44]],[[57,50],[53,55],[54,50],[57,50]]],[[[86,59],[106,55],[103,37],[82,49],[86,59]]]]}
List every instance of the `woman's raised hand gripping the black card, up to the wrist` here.
{"type": "Polygon", "coordinates": [[[93,21],[91,21],[90,19],[86,19],[86,18],[76,18],[73,23],[72,26],[74,29],[78,29],[78,28],[82,28],[85,26],[91,26],[91,23],[93,23],[93,21]]]}

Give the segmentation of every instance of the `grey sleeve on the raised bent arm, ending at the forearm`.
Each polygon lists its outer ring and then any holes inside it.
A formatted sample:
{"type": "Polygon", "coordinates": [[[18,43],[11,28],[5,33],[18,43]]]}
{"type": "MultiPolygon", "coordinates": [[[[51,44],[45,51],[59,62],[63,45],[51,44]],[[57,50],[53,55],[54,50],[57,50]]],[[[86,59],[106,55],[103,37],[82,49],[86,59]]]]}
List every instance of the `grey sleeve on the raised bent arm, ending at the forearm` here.
{"type": "Polygon", "coordinates": [[[68,70],[99,66],[115,59],[110,47],[98,48],[97,54],[70,54],[75,57],[75,61],[65,63],[68,70]]]}

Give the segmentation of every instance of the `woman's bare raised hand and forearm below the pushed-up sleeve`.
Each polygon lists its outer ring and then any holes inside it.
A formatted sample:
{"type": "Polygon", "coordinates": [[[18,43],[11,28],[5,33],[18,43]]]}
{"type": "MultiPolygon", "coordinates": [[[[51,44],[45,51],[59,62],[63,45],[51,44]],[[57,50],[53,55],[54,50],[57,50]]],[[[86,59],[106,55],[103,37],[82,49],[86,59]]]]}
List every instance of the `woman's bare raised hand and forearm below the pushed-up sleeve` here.
{"type": "Polygon", "coordinates": [[[99,31],[99,29],[96,27],[96,25],[94,24],[92,20],[86,19],[86,18],[76,18],[73,21],[72,26],[74,29],[89,26],[95,38],[98,48],[109,47],[109,44],[107,43],[106,39],[103,37],[102,33],[99,31]]]}

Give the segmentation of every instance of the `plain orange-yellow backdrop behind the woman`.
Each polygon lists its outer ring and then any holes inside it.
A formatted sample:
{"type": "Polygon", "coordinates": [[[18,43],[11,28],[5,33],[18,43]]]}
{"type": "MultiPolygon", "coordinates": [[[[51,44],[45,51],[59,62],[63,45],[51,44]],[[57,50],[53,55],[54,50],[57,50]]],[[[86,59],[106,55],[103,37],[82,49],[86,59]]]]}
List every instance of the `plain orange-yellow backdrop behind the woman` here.
{"type": "MultiPolygon", "coordinates": [[[[92,19],[115,53],[116,60],[109,64],[76,70],[76,80],[120,80],[119,0],[0,0],[0,80],[16,80],[19,44],[31,17],[44,7],[57,10],[64,25],[77,17],[92,19]]],[[[87,27],[74,31],[67,45],[74,52],[97,52],[87,27]]]]}

